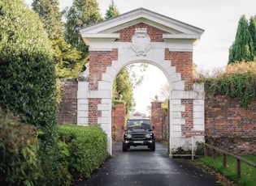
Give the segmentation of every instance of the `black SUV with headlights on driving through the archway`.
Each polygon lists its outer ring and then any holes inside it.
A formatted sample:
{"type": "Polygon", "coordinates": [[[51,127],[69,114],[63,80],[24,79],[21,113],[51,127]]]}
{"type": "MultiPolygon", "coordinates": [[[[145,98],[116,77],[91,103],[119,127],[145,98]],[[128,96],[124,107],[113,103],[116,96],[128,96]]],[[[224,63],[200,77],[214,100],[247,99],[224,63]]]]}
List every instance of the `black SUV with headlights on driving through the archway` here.
{"type": "Polygon", "coordinates": [[[154,151],[153,129],[150,119],[128,119],[124,132],[123,151],[127,151],[130,146],[148,146],[154,151]]]}

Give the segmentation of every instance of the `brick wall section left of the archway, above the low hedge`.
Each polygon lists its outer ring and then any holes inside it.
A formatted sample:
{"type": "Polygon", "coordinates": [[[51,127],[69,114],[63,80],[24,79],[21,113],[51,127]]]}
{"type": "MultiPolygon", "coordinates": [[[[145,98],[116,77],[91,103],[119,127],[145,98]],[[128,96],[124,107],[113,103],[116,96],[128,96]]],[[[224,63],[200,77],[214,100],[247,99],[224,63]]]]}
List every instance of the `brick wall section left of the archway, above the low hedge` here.
{"type": "Polygon", "coordinates": [[[58,124],[77,124],[77,86],[76,80],[66,80],[61,82],[64,91],[59,104],[57,115],[58,124]]]}

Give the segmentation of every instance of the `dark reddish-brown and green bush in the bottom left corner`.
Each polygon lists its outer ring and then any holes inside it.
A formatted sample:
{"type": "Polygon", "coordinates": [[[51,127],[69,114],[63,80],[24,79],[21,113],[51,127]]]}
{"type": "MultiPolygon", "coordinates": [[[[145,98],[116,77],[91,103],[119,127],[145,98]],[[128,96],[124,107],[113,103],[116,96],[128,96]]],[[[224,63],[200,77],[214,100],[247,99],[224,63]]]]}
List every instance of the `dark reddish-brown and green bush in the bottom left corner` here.
{"type": "Polygon", "coordinates": [[[37,129],[0,110],[0,183],[33,185],[41,177],[37,129]]]}

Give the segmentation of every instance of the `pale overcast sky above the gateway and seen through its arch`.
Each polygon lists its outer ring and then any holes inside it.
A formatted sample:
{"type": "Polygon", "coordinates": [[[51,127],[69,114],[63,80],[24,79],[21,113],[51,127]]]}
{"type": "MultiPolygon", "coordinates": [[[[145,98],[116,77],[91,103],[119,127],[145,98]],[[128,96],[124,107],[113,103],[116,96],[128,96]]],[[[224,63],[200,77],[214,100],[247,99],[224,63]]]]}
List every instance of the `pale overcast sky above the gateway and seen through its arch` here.
{"type": "MultiPolygon", "coordinates": [[[[30,5],[32,0],[25,2],[30,5]]],[[[60,10],[72,6],[72,0],[59,0],[59,2],[60,10]]],[[[111,0],[97,0],[97,2],[104,18],[111,0]]],[[[235,40],[241,15],[245,15],[247,19],[256,15],[255,0],[114,0],[114,2],[120,14],[142,7],[205,30],[193,50],[193,62],[197,65],[198,71],[225,67],[228,63],[228,49],[235,40]]],[[[133,93],[137,103],[136,111],[148,114],[146,107],[150,105],[151,98],[158,95],[160,87],[163,87],[167,80],[154,66],[148,68],[144,79],[141,87],[133,93]]]]}

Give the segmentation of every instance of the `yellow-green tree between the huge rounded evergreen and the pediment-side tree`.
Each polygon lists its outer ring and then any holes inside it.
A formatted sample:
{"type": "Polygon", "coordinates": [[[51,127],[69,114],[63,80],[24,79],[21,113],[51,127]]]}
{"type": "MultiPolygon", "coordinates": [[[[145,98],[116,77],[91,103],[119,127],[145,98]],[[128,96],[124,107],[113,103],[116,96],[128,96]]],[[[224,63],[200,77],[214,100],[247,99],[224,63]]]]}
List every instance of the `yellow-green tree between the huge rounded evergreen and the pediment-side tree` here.
{"type": "Polygon", "coordinates": [[[76,78],[79,74],[77,63],[80,63],[80,53],[65,41],[64,23],[59,11],[59,0],[34,0],[33,10],[44,23],[46,32],[54,49],[56,74],[59,78],[76,78]]]}

